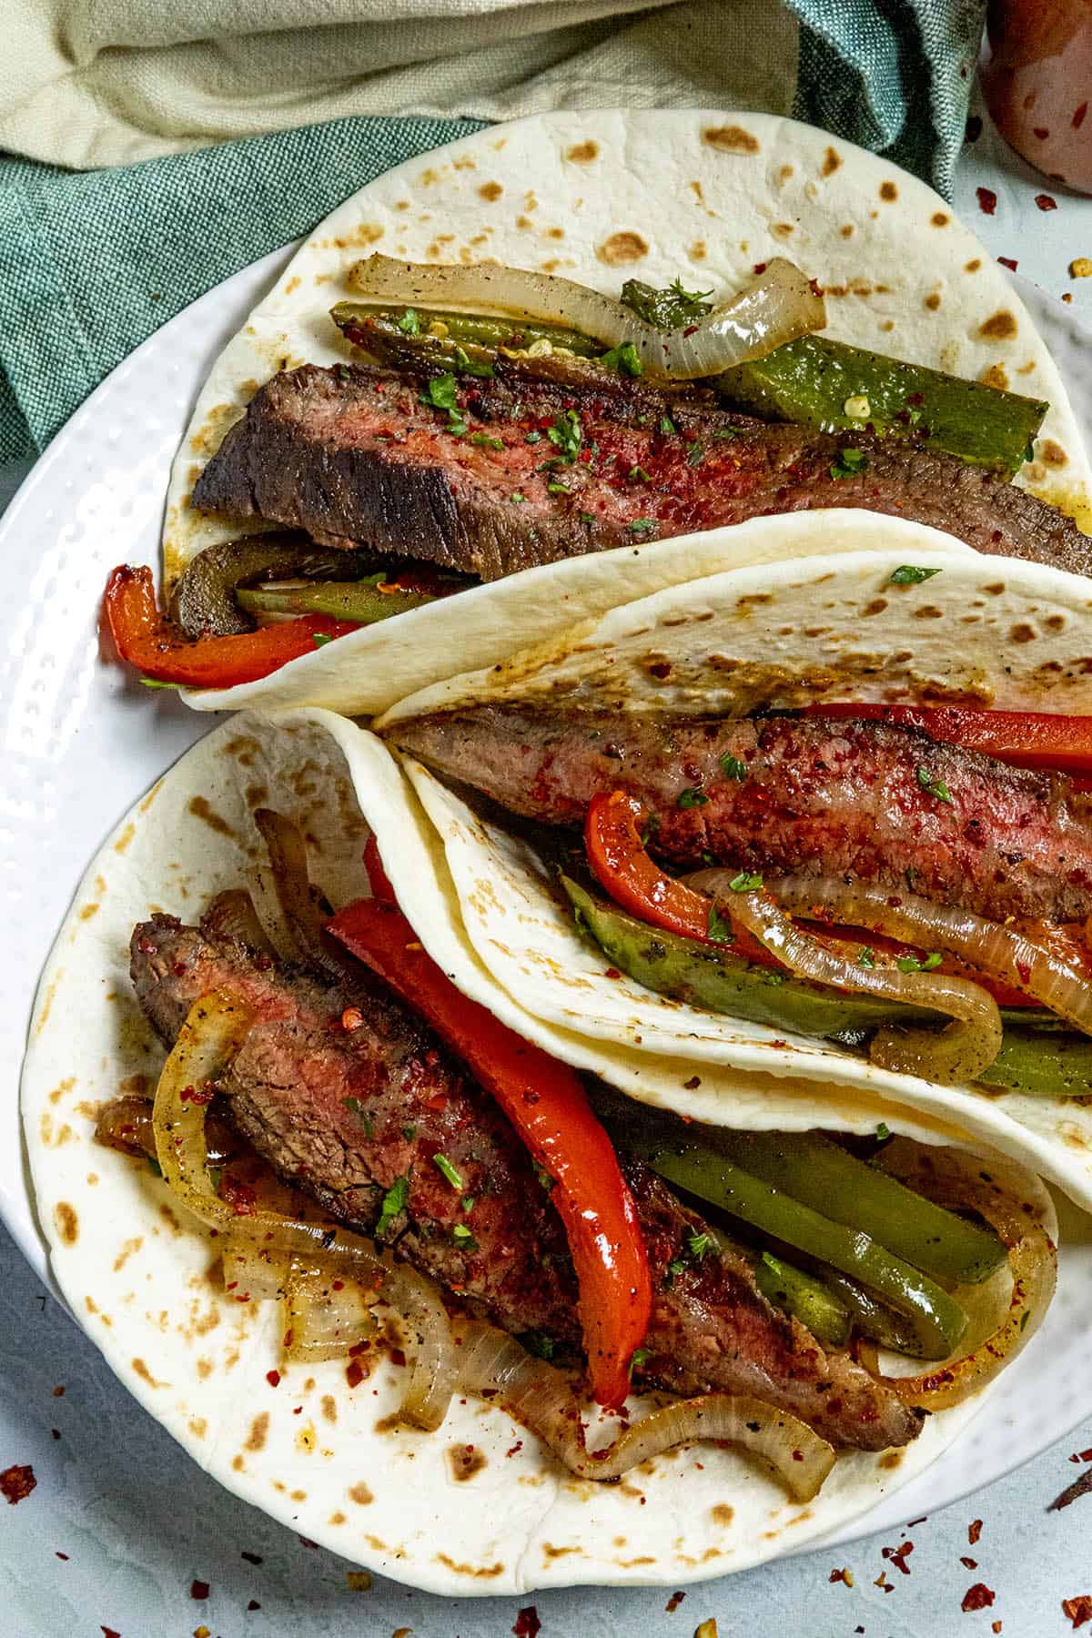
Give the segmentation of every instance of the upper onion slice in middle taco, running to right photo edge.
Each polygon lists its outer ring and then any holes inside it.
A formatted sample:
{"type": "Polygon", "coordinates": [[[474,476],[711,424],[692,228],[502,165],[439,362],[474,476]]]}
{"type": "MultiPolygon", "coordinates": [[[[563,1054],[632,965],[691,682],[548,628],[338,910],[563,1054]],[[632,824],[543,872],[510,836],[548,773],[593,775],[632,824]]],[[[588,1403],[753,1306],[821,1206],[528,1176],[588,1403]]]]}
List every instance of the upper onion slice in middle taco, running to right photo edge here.
{"type": "Polygon", "coordinates": [[[769,885],[769,891],[797,916],[830,914],[838,922],[871,927],[918,948],[959,955],[981,973],[1022,989],[1092,1035],[1092,984],[1027,932],[1002,927],[971,911],[933,904],[917,893],[892,894],[889,888],[869,881],[783,876],[769,885]]]}

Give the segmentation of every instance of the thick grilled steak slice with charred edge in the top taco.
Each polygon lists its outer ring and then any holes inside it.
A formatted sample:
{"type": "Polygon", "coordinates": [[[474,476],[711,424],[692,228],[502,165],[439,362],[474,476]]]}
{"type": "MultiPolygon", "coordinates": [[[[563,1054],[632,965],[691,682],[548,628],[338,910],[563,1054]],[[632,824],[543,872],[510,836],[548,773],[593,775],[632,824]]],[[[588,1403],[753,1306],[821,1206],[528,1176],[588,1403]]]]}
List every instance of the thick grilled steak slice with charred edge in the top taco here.
{"type": "Polygon", "coordinates": [[[661,393],[573,360],[498,359],[494,380],[457,382],[455,413],[422,403],[426,385],[368,365],[275,375],[205,467],[193,506],[268,518],[327,545],[411,550],[485,580],[817,506],[896,513],[979,552],[1092,568],[1089,541],[1063,513],[925,444],[855,432],[860,470],[833,477],[845,436],[753,421],[706,393],[661,393]],[[578,447],[563,429],[550,441],[558,414],[578,447]]]}

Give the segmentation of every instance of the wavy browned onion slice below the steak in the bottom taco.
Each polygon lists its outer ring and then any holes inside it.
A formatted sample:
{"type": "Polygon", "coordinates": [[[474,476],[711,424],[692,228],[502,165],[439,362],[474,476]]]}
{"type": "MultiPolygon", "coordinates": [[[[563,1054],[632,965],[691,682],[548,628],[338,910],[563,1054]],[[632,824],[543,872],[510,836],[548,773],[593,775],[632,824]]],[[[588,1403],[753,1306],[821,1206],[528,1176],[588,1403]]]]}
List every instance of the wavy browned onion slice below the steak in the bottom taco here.
{"type": "Polygon", "coordinates": [[[796,1502],[810,1502],[835,1463],[833,1446],[799,1417],[735,1394],[675,1399],[606,1450],[588,1451],[580,1402],[557,1366],[530,1358],[506,1332],[481,1324],[467,1327],[460,1353],[458,1387],[491,1396],[581,1479],[619,1479],[676,1445],[724,1440],[761,1456],[796,1502]]]}

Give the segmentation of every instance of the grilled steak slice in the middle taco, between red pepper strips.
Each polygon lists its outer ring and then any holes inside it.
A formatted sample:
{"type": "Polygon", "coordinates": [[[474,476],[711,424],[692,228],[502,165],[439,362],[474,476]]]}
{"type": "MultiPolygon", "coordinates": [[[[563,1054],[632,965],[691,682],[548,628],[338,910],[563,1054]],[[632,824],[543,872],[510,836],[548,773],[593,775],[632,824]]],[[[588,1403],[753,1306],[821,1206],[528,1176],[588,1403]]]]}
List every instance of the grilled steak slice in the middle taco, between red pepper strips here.
{"type": "Polygon", "coordinates": [[[994,921],[1092,911],[1092,799],[1061,775],[1010,768],[917,729],[498,704],[390,732],[437,773],[547,824],[581,824],[598,791],[629,791],[658,821],[653,850],[675,865],[712,855],[899,889],[912,881],[925,898],[994,921]],[[725,778],[725,757],[745,765],[742,780],[725,778]],[[706,801],[679,806],[699,786],[706,801]]]}

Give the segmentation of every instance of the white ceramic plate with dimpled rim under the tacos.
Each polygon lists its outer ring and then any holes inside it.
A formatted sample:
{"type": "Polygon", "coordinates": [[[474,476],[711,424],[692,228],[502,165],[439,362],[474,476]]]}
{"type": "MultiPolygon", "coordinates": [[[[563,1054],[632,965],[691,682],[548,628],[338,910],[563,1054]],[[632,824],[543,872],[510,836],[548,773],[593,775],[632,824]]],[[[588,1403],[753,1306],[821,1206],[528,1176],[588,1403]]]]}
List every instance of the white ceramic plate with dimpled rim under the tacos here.
{"type": "MultiPolygon", "coordinates": [[[[16,1079],[38,973],[82,870],[113,822],[210,727],[98,654],[98,600],[116,562],[156,563],[170,459],[208,369],[278,277],[288,251],[224,282],[164,326],[93,393],[38,462],[0,524],[10,637],[0,667],[0,1214],[49,1279],[23,1158],[16,1079]]],[[[1072,314],[1022,280],[1066,377],[1092,414],[1092,351],[1072,314]]],[[[69,1020],[79,1030],[80,1020],[69,1020]]],[[[1027,1461],[1092,1414],[1084,1314],[1092,1220],[1063,1202],[1058,1299],[1033,1348],[928,1473],[837,1536],[935,1512],[1027,1461]]],[[[121,1387],[118,1389],[121,1392],[121,1387]]],[[[809,1543],[812,1546],[814,1543],[809,1543]]]]}

